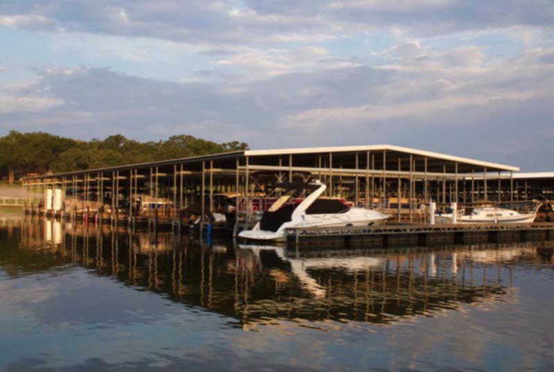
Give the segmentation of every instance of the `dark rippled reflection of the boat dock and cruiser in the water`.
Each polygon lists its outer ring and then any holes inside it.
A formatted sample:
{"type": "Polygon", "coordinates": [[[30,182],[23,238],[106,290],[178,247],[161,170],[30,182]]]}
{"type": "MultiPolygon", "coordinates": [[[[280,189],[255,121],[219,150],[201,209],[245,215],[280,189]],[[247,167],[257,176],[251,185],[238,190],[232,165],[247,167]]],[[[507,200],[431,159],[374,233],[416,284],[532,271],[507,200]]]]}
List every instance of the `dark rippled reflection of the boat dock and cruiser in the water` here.
{"type": "MultiPolygon", "coordinates": [[[[287,251],[45,220],[22,224],[20,233],[20,254],[39,256],[42,271],[76,263],[250,329],[281,320],[312,328],[329,320],[392,324],[512,301],[512,263],[533,263],[548,245],[287,251]]],[[[17,270],[36,270],[24,264],[32,261],[18,261],[17,270]]]]}

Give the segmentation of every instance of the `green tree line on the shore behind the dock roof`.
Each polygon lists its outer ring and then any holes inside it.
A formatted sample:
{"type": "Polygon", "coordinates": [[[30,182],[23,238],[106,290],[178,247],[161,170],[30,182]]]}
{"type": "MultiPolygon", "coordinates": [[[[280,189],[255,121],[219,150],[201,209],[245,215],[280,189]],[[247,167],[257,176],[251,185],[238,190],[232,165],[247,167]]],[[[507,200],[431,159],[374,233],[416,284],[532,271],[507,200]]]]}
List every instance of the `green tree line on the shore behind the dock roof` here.
{"type": "Polygon", "coordinates": [[[165,141],[140,142],[121,134],[81,141],[44,132],[11,131],[0,137],[0,175],[13,183],[29,173],[71,172],[247,149],[244,142],[216,143],[186,134],[165,141]]]}

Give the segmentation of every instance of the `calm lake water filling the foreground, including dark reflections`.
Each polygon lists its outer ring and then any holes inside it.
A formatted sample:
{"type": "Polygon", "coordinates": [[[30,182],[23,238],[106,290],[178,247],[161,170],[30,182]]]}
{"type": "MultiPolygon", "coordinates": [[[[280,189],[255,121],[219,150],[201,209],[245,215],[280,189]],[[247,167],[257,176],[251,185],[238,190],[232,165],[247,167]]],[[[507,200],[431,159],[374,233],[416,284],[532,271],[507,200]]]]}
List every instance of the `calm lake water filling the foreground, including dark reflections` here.
{"type": "Polygon", "coordinates": [[[554,371],[553,247],[287,251],[4,221],[0,371],[554,371]]]}

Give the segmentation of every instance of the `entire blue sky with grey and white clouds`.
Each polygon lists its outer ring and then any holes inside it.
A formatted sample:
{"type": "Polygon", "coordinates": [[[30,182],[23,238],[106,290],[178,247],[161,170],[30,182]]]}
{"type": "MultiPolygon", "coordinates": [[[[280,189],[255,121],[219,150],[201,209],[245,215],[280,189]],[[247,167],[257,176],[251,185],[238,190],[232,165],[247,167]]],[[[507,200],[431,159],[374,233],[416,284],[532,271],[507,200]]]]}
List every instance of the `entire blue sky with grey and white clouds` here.
{"type": "Polygon", "coordinates": [[[2,0],[0,135],[403,145],[554,171],[552,0],[2,0]]]}

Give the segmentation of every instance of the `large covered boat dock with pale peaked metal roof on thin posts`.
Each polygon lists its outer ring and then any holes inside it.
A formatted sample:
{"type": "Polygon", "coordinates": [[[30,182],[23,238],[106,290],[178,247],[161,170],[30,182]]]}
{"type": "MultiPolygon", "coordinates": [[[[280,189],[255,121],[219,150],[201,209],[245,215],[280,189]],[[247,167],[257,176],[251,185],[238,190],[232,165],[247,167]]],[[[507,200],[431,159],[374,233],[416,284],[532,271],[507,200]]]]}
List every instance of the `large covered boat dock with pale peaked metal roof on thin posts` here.
{"type": "Polygon", "coordinates": [[[268,208],[275,184],[318,179],[328,185],[325,197],[379,209],[392,221],[424,223],[431,201],[519,199],[518,171],[395,145],[244,150],[28,177],[24,209],[85,223],[179,227],[219,213],[241,228],[268,208]]]}

